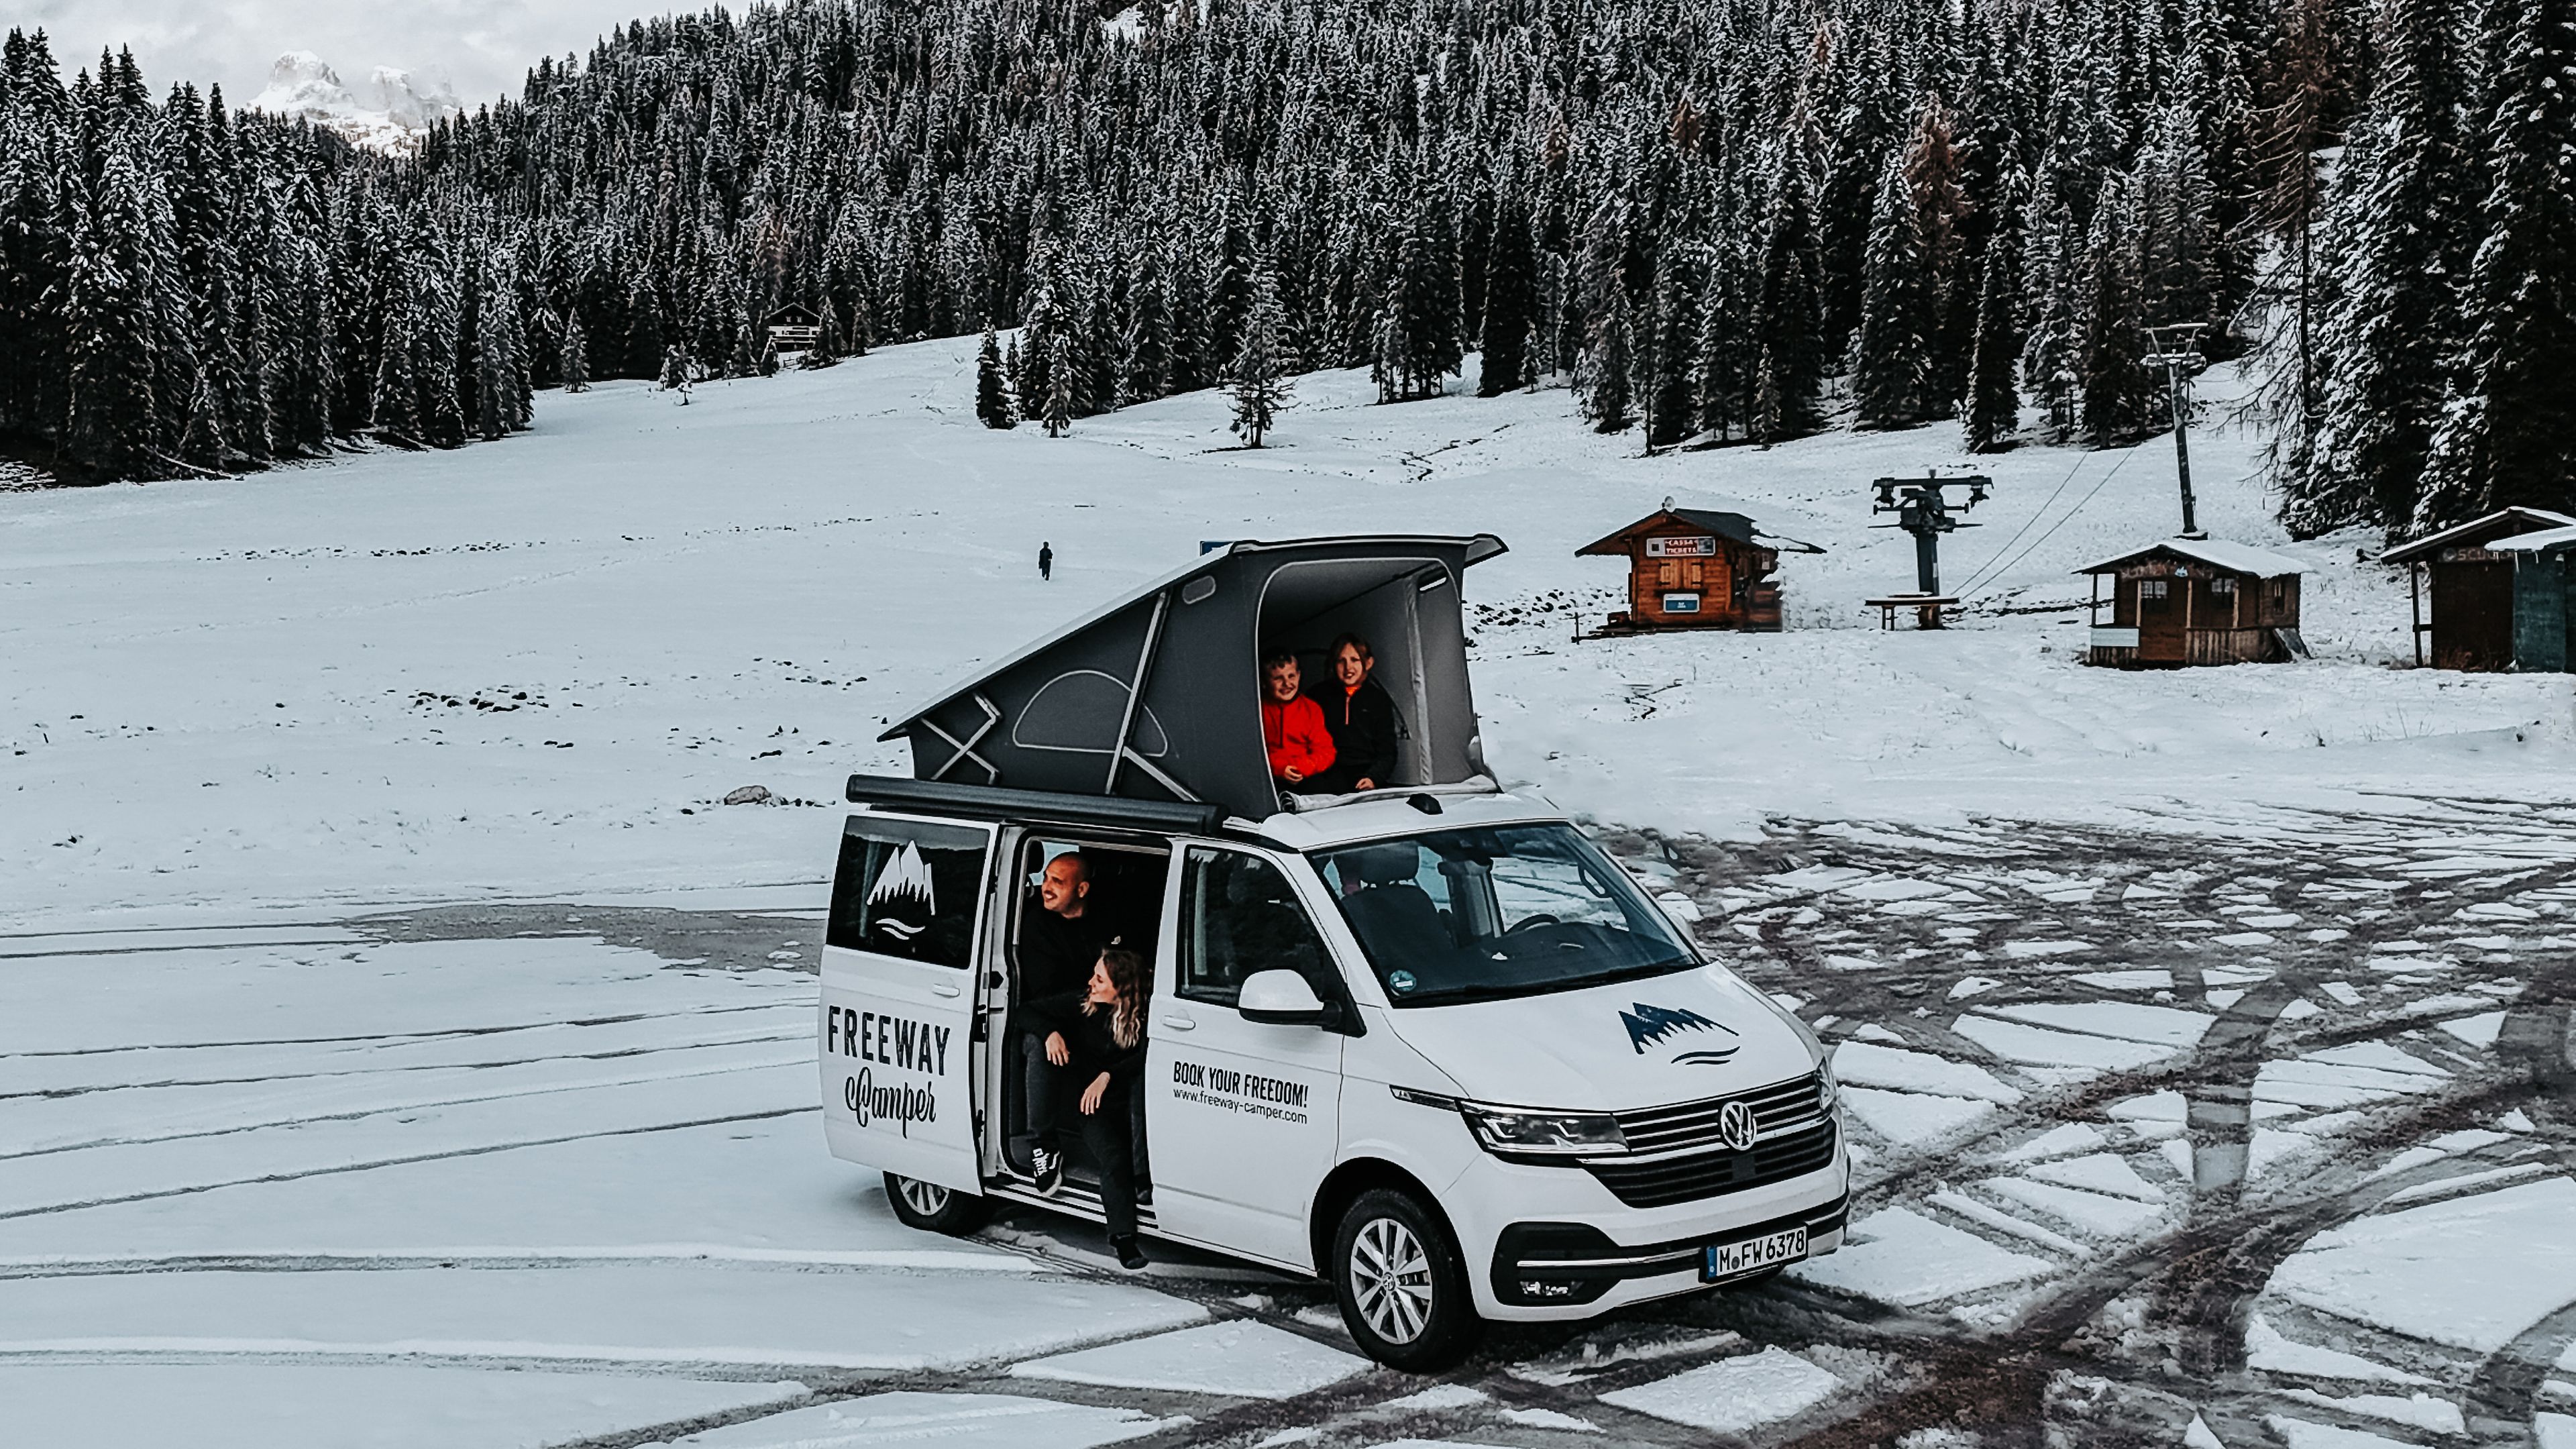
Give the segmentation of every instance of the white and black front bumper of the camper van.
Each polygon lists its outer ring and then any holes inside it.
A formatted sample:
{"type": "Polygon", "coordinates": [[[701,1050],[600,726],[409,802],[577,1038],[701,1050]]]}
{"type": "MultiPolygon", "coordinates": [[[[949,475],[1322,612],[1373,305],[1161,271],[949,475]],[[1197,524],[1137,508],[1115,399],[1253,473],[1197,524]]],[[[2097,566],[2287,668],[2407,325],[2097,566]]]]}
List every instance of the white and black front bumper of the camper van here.
{"type": "Polygon", "coordinates": [[[1762,1189],[1662,1209],[1633,1209],[1582,1168],[1486,1160],[1450,1186],[1453,1204],[1512,1204],[1510,1220],[1453,1212],[1473,1274],[1476,1312],[1494,1320],[1595,1318],[1633,1302],[1690,1294],[1710,1243],[1739,1243],[1806,1227],[1806,1256],[1842,1248],[1852,1212],[1850,1158],[1762,1189]],[[1510,1181],[1479,1183],[1486,1173],[1510,1181]],[[1553,1199],[1553,1201],[1551,1201],[1553,1199]],[[1463,1217],[1463,1222],[1461,1222],[1463,1217]]]}

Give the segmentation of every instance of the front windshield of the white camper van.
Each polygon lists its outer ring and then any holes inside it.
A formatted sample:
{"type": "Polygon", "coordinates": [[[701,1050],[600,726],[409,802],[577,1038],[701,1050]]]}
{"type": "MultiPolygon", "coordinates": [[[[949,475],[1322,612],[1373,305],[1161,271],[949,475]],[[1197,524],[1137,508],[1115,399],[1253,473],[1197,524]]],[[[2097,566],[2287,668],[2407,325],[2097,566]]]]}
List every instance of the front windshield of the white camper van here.
{"type": "Polygon", "coordinates": [[[1394,1006],[1538,995],[1695,967],[1672,920],[1571,825],[1316,851],[1394,1006]]]}

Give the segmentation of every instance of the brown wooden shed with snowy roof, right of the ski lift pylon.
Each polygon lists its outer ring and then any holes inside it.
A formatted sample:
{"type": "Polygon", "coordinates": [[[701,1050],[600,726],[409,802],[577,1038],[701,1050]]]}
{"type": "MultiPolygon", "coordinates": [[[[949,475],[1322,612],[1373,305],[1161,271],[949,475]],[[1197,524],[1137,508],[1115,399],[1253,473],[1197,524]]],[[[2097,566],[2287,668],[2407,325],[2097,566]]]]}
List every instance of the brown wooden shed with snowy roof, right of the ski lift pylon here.
{"type": "Polygon", "coordinates": [[[2298,559],[2223,539],[2164,539],[2076,572],[2094,580],[2089,665],[2246,665],[2308,652],[2298,637],[2298,559]]]}

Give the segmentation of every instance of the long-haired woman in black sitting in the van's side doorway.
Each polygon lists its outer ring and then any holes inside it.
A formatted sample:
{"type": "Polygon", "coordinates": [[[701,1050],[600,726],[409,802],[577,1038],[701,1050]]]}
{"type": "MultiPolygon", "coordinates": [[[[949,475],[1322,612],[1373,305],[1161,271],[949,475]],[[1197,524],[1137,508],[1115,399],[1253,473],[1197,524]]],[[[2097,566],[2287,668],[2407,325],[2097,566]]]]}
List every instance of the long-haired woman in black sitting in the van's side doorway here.
{"type": "Polygon", "coordinates": [[[1064,1147],[1082,1140],[1100,1168],[1100,1207],[1110,1220],[1110,1250],[1128,1269],[1144,1266],[1136,1245],[1136,1158],[1128,1147],[1128,1106],[1144,1078],[1144,1003],[1149,995],[1144,957],[1108,949],[1092,962],[1082,990],[1023,1000],[1033,1026],[1046,1031],[1046,1062],[1059,1073],[1054,1104],[1074,1098],[1074,1122],[1030,1122],[1038,1137],[1038,1191],[1064,1183],[1064,1147]],[[1079,1088],[1079,1096],[1074,1096],[1079,1088]]]}

